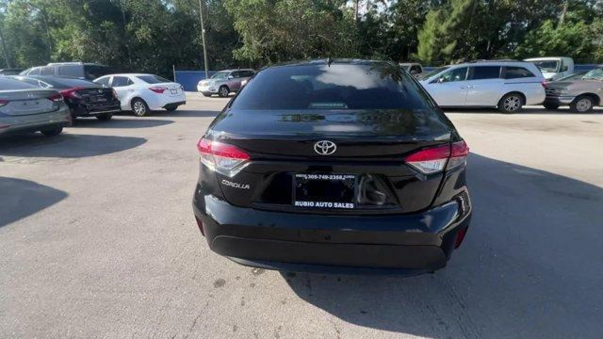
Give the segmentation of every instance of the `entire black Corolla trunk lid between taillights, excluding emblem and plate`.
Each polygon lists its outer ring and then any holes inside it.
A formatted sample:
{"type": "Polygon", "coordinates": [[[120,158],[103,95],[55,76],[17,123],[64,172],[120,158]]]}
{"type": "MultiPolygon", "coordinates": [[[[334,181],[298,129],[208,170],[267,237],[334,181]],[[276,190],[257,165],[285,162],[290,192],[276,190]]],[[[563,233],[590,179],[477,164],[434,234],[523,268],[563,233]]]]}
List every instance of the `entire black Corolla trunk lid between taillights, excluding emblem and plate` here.
{"type": "Polygon", "coordinates": [[[209,137],[250,156],[235,175],[216,174],[232,204],[314,214],[404,214],[428,208],[443,178],[417,175],[405,156],[449,144],[451,133],[433,111],[230,110],[216,118],[209,137]],[[335,143],[336,151],[319,154],[315,145],[324,140],[335,143]],[[296,208],[296,175],[308,173],[355,176],[358,203],[337,211],[296,208]]]}

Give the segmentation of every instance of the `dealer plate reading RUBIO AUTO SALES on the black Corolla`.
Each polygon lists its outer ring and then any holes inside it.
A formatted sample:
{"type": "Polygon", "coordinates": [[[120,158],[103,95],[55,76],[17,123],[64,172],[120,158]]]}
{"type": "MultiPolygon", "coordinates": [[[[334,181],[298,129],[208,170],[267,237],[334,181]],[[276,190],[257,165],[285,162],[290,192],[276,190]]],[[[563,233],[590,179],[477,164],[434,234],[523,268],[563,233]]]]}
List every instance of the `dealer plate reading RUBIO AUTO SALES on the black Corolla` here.
{"type": "Polygon", "coordinates": [[[292,206],[319,211],[357,209],[358,178],[349,173],[292,173],[292,206]]]}

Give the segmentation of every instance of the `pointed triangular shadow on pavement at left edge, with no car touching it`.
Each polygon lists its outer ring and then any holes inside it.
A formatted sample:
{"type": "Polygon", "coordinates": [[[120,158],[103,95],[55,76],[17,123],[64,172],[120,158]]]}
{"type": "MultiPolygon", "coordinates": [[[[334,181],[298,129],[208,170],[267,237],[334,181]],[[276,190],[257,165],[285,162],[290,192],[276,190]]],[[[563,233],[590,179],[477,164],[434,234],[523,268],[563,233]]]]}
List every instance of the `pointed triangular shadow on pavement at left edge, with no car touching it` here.
{"type": "Polygon", "coordinates": [[[30,180],[0,177],[0,228],[66,197],[66,192],[30,180]]]}

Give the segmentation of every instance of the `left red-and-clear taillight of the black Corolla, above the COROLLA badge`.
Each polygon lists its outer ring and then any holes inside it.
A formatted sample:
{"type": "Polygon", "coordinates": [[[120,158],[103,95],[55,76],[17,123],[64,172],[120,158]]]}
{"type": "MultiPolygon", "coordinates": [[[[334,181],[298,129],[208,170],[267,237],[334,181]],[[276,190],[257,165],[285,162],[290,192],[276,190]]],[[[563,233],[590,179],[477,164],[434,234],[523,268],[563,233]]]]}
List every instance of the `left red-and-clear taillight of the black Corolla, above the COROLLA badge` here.
{"type": "Polygon", "coordinates": [[[250,159],[249,154],[235,145],[211,141],[205,138],[198,142],[197,150],[204,165],[213,171],[229,177],[235,175],[240,165],[250,159]]]}

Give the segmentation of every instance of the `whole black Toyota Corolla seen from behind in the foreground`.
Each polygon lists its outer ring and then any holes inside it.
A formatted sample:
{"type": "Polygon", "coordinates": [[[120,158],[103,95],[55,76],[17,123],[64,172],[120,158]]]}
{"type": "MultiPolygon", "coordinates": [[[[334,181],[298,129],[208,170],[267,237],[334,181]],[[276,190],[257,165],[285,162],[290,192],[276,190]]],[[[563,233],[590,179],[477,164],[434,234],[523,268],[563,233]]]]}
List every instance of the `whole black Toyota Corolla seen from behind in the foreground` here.
{"type": "Polygon", "coordinates": [[[469,148],[393,63],[266,68],[197,148],[198,226],[239,264],[420,274],[444,267],[469,227],[469,148]]]}

